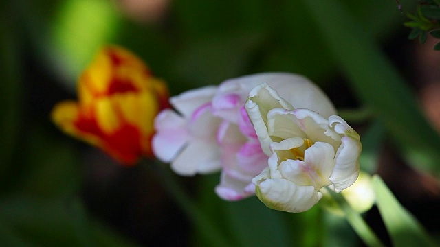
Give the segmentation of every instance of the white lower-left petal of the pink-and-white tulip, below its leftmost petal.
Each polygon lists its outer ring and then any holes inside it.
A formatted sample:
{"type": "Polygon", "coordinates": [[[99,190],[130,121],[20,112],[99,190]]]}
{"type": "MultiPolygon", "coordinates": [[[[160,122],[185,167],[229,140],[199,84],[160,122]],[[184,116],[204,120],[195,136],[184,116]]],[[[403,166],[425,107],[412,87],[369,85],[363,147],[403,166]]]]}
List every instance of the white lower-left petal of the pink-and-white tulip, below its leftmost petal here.
{"type": "Polygon", "coordinates": [[[212,141],[191,140],[171,163],[179,175],[208,174],[221,169],[219,146],[212,141]]]}

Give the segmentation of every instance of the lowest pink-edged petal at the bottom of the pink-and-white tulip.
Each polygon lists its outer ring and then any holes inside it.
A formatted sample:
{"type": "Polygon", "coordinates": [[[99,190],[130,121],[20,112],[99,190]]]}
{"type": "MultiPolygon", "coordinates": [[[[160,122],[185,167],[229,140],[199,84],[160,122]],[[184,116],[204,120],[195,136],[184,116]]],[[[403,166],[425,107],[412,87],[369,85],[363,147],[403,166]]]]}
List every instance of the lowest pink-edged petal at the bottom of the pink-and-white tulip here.
{"type": "Polygon", "coordinates": [[[215,187],[215,192],[223,200],[236,201],[254,195],[254,191],[248,189],[250,180],[243,181],[228,176],[225,172],[221,174],[221,182],[215,187]]]}

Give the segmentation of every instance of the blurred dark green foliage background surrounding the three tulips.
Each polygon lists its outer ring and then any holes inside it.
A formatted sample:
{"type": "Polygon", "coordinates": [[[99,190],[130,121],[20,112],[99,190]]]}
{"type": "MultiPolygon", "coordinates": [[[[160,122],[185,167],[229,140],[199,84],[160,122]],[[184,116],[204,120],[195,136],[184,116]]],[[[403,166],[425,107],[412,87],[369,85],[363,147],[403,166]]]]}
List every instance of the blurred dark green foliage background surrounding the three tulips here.
{"type": "MultiPolygon", "coordinates": [[[[414,12],[417,1],[401,4],[414,12]]],[[[6,0],[0,8],[0,246],[362,246],[320,207],[289,214],[255,197],[223,202],[213,191],[219,174],[164,177],[153,161],[124,168],[62,134],[50,111],[76,99],[78,75],[107,43],[140,56],[172,95],[264,71],[307,76],[360,133],[362,169],[378,172],[439,239],[440,138],[418,97],[430,72],[421,61],[435,51],[423,55],[407,40],[395,1],[6,0]],[[164,178],[187,191],[202,220],[188,218],[164,178]]],[[[389,244],[377,208],[365,217],[389,244]]]]}

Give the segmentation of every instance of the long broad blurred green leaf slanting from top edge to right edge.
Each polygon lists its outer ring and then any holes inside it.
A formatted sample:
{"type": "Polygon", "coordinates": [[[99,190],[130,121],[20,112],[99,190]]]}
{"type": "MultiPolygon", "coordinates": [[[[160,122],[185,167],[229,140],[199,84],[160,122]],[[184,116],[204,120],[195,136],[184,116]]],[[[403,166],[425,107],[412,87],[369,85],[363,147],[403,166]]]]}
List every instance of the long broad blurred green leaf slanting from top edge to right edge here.
{"type": "Polygon", "coordinates": [[[417,168],[440,176],[440,137],[421,114],[415,95],[371,36],[338,1],[303,1],[320,25],[355,93],[382,119],[401,153],[417,168]]]}

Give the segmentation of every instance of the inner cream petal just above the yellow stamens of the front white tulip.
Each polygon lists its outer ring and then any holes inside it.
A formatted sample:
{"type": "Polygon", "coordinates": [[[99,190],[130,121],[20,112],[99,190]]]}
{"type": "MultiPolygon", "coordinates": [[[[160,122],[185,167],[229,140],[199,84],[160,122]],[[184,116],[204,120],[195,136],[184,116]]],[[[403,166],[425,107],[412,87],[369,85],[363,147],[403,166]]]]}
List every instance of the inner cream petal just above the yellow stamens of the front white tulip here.
{"type": "Polygon", "coordinates": [[[291,110],[275,108],[267,114],[267,128],[269,134],[274,139],[288,139],[292,137],[307,138],[307,135],[298,126],[298,119],[292,114],[291,110]]]}

